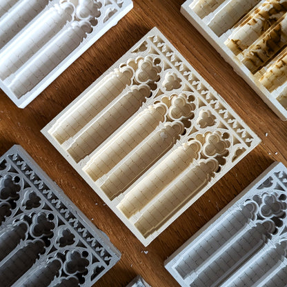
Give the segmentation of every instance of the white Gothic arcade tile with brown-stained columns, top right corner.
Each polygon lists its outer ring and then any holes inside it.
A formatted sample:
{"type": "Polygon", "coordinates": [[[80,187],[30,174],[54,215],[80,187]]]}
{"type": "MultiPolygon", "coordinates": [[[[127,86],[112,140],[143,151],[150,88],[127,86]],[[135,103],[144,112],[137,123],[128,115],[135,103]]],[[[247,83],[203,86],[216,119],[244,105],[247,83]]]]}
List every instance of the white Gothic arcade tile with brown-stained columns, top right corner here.
{"type": "Polygon", "coordinates": [[[188,0],[181,13],[287,120],[287,0],[188,0]]]}

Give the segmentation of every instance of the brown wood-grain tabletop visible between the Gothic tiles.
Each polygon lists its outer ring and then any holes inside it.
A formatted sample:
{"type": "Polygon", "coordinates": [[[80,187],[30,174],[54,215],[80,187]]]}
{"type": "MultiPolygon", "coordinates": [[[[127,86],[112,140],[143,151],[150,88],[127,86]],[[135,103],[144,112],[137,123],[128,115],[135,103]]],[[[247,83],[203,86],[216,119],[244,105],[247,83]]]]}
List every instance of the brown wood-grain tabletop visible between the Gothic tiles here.
{"type": "Polygon", "coordinates": [[[121,251],[121,261],[95,284],[98,287],[126,286],[137,274],[153,287],[179,286],[165,270],[164,260],[273,161],[282,161],[287,166],[287,122],[281,121],[261,101],[181,15],[182,3],[184,0],[134,0],[135,7],[117,26],[23,110],[0,91],[1,155],[14,143],[23,146],[121,251]],[[226,99],[262,142],[145,248],[40,130],[154,26],[226,99]]]}

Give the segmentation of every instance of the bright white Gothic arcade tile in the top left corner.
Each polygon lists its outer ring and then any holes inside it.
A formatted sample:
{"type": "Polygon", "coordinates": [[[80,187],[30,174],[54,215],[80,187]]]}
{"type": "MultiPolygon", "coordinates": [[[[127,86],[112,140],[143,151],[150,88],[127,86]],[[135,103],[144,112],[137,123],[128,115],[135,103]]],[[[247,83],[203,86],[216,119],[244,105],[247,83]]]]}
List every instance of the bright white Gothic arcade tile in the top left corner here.
{"type": "Polygon", "coordinates": [[[25,108],[131,9],[131,0],[0,0],[0,88],[25,108]]]}

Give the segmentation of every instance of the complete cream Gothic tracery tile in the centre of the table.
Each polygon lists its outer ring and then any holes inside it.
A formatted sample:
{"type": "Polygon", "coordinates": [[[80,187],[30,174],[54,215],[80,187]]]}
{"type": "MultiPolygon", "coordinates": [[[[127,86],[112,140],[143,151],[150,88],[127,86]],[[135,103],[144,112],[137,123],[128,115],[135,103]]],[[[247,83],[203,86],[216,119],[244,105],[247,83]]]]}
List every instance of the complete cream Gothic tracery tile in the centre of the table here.
{"type": "Polygon", "coordinates": [[[259,143],[157,28],[42,132],[145,246],[259,143]]]}

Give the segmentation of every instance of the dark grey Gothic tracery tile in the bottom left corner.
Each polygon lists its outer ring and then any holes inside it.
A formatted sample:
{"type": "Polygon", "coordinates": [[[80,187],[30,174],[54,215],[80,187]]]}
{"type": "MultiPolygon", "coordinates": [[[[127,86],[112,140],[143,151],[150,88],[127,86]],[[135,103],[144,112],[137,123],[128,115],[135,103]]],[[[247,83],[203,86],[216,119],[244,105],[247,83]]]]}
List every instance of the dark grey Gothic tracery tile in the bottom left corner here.
{"type": "Polygon", "coordinates": [[[21,146],[0,157],[1,287],[90,287],[120,257],[21,146]]]}

